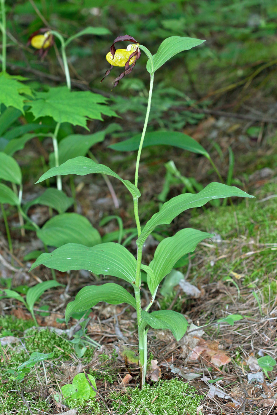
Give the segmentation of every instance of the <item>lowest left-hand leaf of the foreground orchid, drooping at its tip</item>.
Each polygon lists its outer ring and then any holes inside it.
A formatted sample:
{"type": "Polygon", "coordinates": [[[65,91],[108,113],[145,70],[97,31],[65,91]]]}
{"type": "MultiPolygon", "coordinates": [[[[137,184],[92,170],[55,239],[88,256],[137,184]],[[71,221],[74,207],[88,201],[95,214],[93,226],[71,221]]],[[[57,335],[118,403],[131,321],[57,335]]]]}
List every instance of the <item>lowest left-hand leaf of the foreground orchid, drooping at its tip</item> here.
{"type": "Polygon", "coordinates": [[[89,310],[100,301],[108,304],[127,303],[136,308],[136,300],[125,288],[115,283],[106,283],[102,286],[87,286],[82,288],[71,303],[67,304],[65,320],[75,312],[89,310]]]}

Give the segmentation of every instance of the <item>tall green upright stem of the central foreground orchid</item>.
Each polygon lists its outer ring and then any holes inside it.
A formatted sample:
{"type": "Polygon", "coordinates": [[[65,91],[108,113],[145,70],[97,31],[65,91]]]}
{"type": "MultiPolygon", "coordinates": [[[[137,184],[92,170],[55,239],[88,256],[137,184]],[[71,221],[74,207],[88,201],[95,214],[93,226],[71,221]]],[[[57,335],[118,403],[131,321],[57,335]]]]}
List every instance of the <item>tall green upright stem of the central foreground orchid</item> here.
{"type": "MultiPolygon", "coordinates": [[[[154,83],[154,69],[153,69],[153,56],[148,51],[145,46],[140,45],[141,50],[146,53],[148,59],[151,62],[152,72],[150,74],[150,86],[149,86],[149,94],[148,94],[148,104],[146,110],[145,121],[143,125],[143,130],[141,133],[141,142],[138,148],[138,155],[136,159],[136,173],[135,173],[135,186],[138,187],[138,168],[139,162],[141,158],[141,150],[143,147],[143,141],[146,133],[146,128],[148,124],[150,109],[151,109],[151,98],[152,98],[152,91],[153,91],[153,83],[154,83]]],[[[138,230],[138,237],[141,234],[141,224],[138,215],[138,198],[134,198],[134,215],[136,220],[136,227],[138,230]]],[[[141,259],[142,259],[142,249],[143,247],[139,248],[137,251],[137,260],[136,260],[136,281],[134,281],[134,290],[135,290],[135,298],[136,298],[136,313],[137,313],[137,322],[138,322],[138,350],[139,350],[139,364],[141,367],[141,388],[145,383],[145,376],[146,376],[146,364],[147,364],[147,330],[145,330],[145,322],[142,320],[141,316],[141,259]]]]}

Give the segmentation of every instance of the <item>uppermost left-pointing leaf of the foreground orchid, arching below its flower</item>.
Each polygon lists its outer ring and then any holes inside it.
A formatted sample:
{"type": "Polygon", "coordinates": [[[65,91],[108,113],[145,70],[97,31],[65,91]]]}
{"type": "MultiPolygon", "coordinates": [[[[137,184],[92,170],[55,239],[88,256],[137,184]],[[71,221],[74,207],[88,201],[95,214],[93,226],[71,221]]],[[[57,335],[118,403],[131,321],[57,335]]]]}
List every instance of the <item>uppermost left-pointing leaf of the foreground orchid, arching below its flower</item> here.
{"type": "Polygon", "coordinates": [[[109,167],[104,166],[104,164],[95,163],[95,161],[82,156],[67,160],[58,167],[50,168],[39,178],[37,183],[40,183],[49,177],[58,175],[64,176],[67,174],[77,174],[79,176],[85,176],[90,173],[102,173],[107,174],[108,176],[116,177],[124,184],[124,186],[126,186],[133,198],[139,198],[141,195],[138,188],[136,188],[136,186],[134,186],[129,180],[121,179],[118,174],[114,173],[114,171],[112,171],[109,167]]]}

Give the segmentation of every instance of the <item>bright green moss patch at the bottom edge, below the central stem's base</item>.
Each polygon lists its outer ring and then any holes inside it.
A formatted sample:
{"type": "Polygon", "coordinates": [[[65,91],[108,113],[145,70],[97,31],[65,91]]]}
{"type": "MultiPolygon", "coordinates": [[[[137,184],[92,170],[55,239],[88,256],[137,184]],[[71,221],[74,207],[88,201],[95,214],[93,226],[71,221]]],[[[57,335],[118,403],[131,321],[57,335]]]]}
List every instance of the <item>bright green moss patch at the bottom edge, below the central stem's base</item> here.
{"type": "Polygon", "coordinates": [[[188,383],[178,381],[177,378],[170,381],[158,381],[155,385],[138,388],[127,388],[127,394],[112,393],[111,398],[120,400],[116,402],[114,411],[118,415],[183,415],[188,413],[196,415],[203,396],[198,395],[195,388],[188,383]],[[154,400],[154,398],[157,398],[154,400]]]}

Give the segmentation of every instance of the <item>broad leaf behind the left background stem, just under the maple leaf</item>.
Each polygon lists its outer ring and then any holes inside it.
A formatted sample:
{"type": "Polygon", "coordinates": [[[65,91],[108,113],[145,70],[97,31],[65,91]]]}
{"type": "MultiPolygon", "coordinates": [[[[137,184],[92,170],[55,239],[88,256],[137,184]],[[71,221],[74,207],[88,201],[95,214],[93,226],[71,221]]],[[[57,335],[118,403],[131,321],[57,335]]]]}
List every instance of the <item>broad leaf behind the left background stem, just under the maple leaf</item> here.
{"type": "MultiPolygon", "coordinates": [[[[72,134],[64,137],[58,145],[59,164],[77,156],[85,156],[94,144],[102,142],[104,138],[105,130],[94,134],[72,134]]],[[[49,155],[49,166],[55,166],[54,153],[49,155]]]]}

